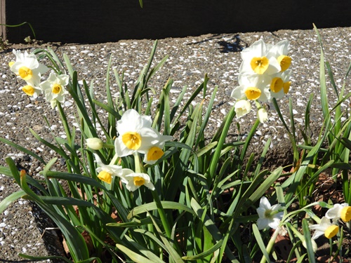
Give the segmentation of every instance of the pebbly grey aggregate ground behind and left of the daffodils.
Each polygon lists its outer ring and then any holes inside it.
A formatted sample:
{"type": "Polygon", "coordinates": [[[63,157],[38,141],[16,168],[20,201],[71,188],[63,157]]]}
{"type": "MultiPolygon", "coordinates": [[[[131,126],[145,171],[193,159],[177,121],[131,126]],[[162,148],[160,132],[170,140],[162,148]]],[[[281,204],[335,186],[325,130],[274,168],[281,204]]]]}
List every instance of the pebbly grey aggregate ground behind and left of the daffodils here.
{"type": "MultiPolygon", "coordinates": [[[[337,27],[320,29],[324,42],[326,60],[331,62],[331,69],[335,77],[336,85],[341,88],[345,73],[351,60],[351,27],[337,27]]],[[[158,42],[154,62],[159,62],[165,55],[169,55],[165,65],[150,81],[150,86],[157,91],[164,86],[168,78],[174,79],[171,89],[171,99],[176,100],[180,90],[187,86],[185,101],[208,74],[208,93],[206,99],[211,97],[215,86],[218,86],[216,102],[212,109],[211,123],[208,126],[208,137],[211,137],[220,126],[225,114],[234,104],[230,97],[231,90],[237,86],[237,76],[241,63],[239,51],[249,46],[254,41],[263,37],[266,43],[277,43],[282,39],[288,39],[291,43],[290,55],[293,58],[291,68],[291,90],[289,96],[279,102],[282,114],[289,123],[289,98],[293,102],[293,114],[296,125],[303,127],[305,119],[305,107],[311,94],[314,101],[310,112],[311,133],[314,140],[317,138],[322,123],[322,109],[319,96],[319,43],[317,36],[310,30],[279,30],[277,32],[251,32],[235,34],[206,34],[201,36],[189,36],[187,38],[168,38],[158,42]]],[[[60,46],[50,43],[41,46],[50,46],[61,58],[66,53],[74,69],[77,70],[79,80],[85,79],[92,83],[95,97],[100,101],[107,101],[105,96],[105,79],[107,65],[111,58],[112,68],[116,68],[121,74],[124,71],[124,82],[128,87],[133,87],[138,75],[152,50],[154,41],[151,39],[122,40],[116,43],[99,44],[67,44],[60,46]],[[112,56],[112,57],[111,57],[112,56]]],[[[31,100],[22,90],[19,90],[22,81],[13,76],[8,69],[8,62],[13,60],[12,48],[22,50],[34,50],[37,46],[13,45],[8,50],[1,52],[0,57],[0,137],[20,144],[22,147],[37,152],[48,161],[53,157],[53,152],[46,149],[29,132],[32,128],[46,140],[51,139],[51,132],[65,137],[62,131],[58,113],[52,110],[45,99],[38,97],[31,100]],[[44,121],[48,119],[50,126],[44,121]]],[[[117,84],[111,72],[112,94],[118,97],[117,84]]],[[[329,95],[331,96],[330,107],[336,103],[336,96],[330,83],[329,95]]],[[[346,92],[350,92],[350,78],[347,80],[346,92]]],[[[202,95],[197,102],[202,100],[202,95]]],[[[350,100],[342,104],[344,109],[350,107],[350,100]]],[[[206,105],[206,104],[205,104],[206,105]]],[[[270,105],[269,121],[259,126],[253,138],[250,151],[260,155],[265,142],[272,139],[270,151],[267,154],[265,166],[288,165],[292,161],[291,145],[282,123],[279,121],[277,112],[270,105]]],[[[72,98],[65,102],[67,113],[74,111],[72,98]]],[[[72,125],[76,125],[74,114],[68,114],[72,125]]],[[[256,110],[237,120],[241,129],[233,125],[228,135],[228,140],[236,140],[238,135],[245,137],[252,124],[256,121],[256,110]]],[[[42,167],[29,156],[0,144],[0,164],[6,165],[4,159],[11,156],[18,165],[26,168],[27,173],[39,176],[42,167]]],[[[65,163],[58,161],[56,169],[63,167],[65,163]]],[[[11,179],[0,175],[0,201],[18,187],[11,179]]],[[[13,203],[2,215],[0,215],[0,261],[11,262],[21,260],[19,252],[29,255],[60,255],[60,245],[55,230],[50,220],[32,203],[18,200],[13,203]],[[44,233],[45,232],[45,233],[44,233]]]]}

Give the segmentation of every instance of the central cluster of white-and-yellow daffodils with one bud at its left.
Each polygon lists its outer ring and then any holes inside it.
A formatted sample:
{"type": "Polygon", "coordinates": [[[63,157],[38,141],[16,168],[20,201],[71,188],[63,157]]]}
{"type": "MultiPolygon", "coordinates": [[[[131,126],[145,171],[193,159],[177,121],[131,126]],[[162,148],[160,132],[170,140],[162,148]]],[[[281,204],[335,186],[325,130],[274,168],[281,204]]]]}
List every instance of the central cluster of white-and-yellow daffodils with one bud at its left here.
{"type": "MultiPolygon", "coordinates": [[[[172,140],[172,136],[161,135],[152,128],[151,116],[140,115],[135,109],[128,109],[117,121],[117,132],[119,136],[114,141],[115,156],[109,165],[102,163],[98,154],[94,154],[98,163],[96,172],[98,178],[103,182],[111,184],[112,178],[117,176],[125,184],[126,189],[135,191],[141,186],[154,190],[150,176],[141,171],[134,172],[131,169],[117,166],[114,162],[124,156],[133,154],[137,160],[139,154],[144,155],[144,163],[154,164],[164,155],[164,144],[172,140]]],[[[88,138],[86,144],[93,150],[100,150],[104,147],[102,140],[98,138],[88,138]]],[[[135,163],[135,170],[140,170],[138,163],[135,163]]]]}

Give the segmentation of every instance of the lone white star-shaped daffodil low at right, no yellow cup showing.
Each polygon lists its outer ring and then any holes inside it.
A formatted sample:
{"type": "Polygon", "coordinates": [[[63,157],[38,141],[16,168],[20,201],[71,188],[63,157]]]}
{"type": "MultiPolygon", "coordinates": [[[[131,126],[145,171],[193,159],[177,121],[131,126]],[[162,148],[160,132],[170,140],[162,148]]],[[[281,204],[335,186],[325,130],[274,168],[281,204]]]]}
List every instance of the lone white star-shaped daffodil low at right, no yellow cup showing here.
{"type": "Polygon", "coordinates": [[[258,229],[265,229],[271,227],[277,229],[284,213],[278,212],[280,204],[270,205],[270,201],[263,196],[260,198],[260,206],[256,209],[258,213],[257,227],[258,229]]]}

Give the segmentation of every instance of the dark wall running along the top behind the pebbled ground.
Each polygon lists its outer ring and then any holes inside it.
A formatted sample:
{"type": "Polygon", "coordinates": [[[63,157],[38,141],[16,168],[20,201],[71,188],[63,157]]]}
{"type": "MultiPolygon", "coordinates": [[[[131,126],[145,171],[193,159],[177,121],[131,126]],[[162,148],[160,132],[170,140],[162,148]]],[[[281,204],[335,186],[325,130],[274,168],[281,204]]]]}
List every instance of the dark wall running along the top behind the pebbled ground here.
{"type": "MultiPolygon", "coordinates": [[[[8,25],[30,22],[38,40],[66,43],[351,26],[351,0],[143,2],[144,8],[138,0],[7,0],[5,15],[8,25]]],[[[27,25],[6,28],[11,43],[29,35],[27,25]]]]}

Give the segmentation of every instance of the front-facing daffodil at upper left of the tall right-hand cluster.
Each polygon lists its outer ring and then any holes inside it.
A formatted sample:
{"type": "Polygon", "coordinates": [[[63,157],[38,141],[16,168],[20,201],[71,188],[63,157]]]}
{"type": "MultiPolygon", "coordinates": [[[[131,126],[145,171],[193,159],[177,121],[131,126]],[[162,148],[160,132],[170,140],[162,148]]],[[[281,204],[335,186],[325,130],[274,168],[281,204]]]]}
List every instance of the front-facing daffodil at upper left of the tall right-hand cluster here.
{"type": "Polygon", "coordinates": [[[241,51],[241,62],[239,72],[249,74],[276,74],[281,71],[277,58],[270,55],[263,39],[253,43],[249,48],[241,51]]]}

